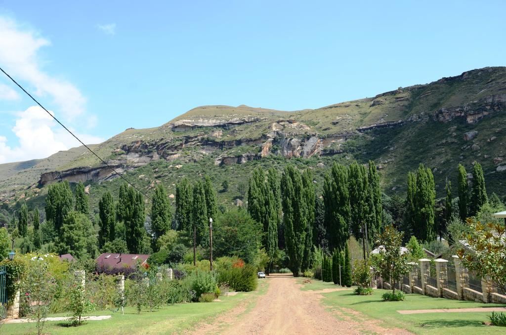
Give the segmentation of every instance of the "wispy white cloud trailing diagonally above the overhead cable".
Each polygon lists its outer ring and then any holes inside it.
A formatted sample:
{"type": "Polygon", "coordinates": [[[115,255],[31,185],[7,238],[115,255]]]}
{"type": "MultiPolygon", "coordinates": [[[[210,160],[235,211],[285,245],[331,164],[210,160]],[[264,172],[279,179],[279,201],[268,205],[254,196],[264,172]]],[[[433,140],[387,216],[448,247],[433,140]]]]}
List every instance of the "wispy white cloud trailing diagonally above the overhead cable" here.
{"type": "Polygon", "coordinates": [[[72,120],[85,112],[86,99],[70,82],[40,69],[37,52],[51,43],[36,31],[0,17],[0,64],[14,78],[27,81],[38,96],[50,95],[58,114],[72,120]]]}

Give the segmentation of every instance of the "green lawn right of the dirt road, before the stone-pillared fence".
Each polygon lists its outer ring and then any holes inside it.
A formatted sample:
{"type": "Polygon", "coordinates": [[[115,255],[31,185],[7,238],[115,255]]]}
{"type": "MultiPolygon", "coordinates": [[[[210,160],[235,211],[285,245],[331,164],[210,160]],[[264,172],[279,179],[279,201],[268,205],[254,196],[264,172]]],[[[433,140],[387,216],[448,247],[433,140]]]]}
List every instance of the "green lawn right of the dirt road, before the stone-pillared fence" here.
{"type": "MultiPolygon", "coordinates": [[[[300,280],[302,283],[302,279],[300,280]]],[[[314,280],[304,284],[304,290],[321,290],[339,287],[331,283],[314,280]]],[[[354,288],[354,287],[353,287],[354,288]]],[[[417,294],[406,295],[402,302],[383,302],[381,296],[387,290],[376,289],[372,296],[357,296],[352,290],[334,291],[322,294],[322,303],[330,308],[344,307],[361,312],[366,317],[383,320],[384,327],[408,329],[417,334],[444,333],[449,334],[487,334],[505,333],[506,328],[482,325],[489,321],[489,312],[475,313],[425,313],[399,314],[397,310],[441,309],[441,308],[475,308],[475,307],[506,307],[498,304],[483,304],[471,301],[459,301],[443,298],[431,298],[417,294]]]]}

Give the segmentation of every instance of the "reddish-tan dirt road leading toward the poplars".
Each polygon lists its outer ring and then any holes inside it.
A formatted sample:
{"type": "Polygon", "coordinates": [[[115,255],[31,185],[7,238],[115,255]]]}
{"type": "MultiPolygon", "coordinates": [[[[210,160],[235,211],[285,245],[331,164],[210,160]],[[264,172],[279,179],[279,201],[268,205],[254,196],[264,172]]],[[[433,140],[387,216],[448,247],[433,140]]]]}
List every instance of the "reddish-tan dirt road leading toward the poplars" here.
{"type": "MultiPolygon", "coordinates": [[[[320,292],[303,291],[291,275],[274,274],[265,280],[269,288],[249,311],[238,307],[221,315],[216,323],[198,327],[194,333],[225,334],[408,334],[387,329],[359,312],[347,309],[326,311],[320,292]]],[[[342,288],[341,288],[342,289],[342,288]]]]}

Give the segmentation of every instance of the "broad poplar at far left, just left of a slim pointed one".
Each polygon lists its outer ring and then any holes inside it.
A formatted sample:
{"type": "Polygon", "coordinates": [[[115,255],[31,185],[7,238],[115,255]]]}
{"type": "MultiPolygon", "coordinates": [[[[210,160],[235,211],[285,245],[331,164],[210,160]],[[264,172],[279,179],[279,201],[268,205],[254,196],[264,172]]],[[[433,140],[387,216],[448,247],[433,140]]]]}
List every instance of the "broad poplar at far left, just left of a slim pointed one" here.
{"type": "Polygon", "coordinates": [[[49,186],[46,197],[46,220],[53,221],[56,232],[60,228],[67,214],[72,211],[73,195],[68,182],[53,183],[49,186]]]}

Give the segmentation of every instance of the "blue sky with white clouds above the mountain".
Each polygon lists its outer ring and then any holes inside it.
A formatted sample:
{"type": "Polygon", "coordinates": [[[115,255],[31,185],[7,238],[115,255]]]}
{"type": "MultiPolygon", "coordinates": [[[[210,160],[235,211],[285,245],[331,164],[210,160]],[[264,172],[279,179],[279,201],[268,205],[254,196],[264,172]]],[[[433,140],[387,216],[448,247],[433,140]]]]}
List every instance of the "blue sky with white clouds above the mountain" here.
{"type": "MultiPolygon", "coordinates": [[[[200,105],[317,108],[506,65],[500,1],[27,3],[0,0],[0,66],[86,142],[200,105]]],[[[33,105],[0,76],[0,163],[76,145],[33,105]]]]}

